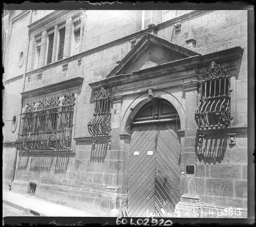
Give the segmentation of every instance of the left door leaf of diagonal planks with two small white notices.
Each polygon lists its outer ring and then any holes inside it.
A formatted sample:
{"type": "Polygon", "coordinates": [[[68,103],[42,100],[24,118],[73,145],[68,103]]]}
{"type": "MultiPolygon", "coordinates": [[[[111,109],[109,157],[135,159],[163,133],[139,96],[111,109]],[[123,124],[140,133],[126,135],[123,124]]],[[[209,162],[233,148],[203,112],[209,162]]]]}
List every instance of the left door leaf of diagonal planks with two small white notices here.
{"type": "Polygon", "coordinates": [[[135,126],[130,140],[128,204],[130,217],[143,217],[155,209],[155,124],[135,126]],[[147,155],[153,151],[153,155],[147,155]],[[134,152],[139,152],[138,156],[134,152]]]}

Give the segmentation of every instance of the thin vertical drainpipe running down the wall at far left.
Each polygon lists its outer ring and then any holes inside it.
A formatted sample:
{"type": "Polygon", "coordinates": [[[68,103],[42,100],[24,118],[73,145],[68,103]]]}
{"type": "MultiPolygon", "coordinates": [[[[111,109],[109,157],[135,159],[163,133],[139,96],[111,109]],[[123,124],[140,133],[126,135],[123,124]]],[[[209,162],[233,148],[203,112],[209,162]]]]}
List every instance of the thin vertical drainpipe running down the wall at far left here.
{"type": "MultiPolygon", "coordinates": [[[[31,24],[32,22],[32,12],[33,10],[30,10],[29,13],[29,24],[31,24]]],[[[22,82],[22,92],[25,91],[25,78],[26,78],[26,71],[28,68],[28,50],[29,50],[29,43],[30,43],[30,33],[31,31],[28,31],[28,39],[27,39],[27,50],[26,50],[26,58],[25,58],[25,69],[24,69],[24,74],[23,74],[23,82],[22,82]]],[[[21,97],[21,110],[20,110],[20,116],[22,114],[22,106],[23,106],[23,97],[21,97]]],[[[20,124],[21,124],[21,117],[20,117],[20,124]]],[[[18,133],[18,137],[20,136],[20,128],[19,127],[19,133],[18,133]]],[[[13,160],[13,166],[12,166],[12,180],[11,180],[11,184],[9,184],[8,186],[10,187],[9,190],[11,190],[12,188],[12,182],[14,181],[14,177],[15,177],[15,171],[16,171],[16,163],[17,163],[17,157],[18,157],[18,150],[15,149],[15,157],[13,160]]]]}

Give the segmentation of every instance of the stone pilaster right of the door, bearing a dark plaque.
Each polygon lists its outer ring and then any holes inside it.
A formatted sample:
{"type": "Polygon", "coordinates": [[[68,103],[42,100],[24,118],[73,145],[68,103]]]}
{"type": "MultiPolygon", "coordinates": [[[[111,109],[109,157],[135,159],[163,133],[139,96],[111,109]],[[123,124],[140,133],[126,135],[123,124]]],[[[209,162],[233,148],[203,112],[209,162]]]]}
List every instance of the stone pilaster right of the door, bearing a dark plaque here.
{"type": "Polygon", "coordinates": [[[193,215],[197,217],[200,208],[195,171],[197,164],[195,154],[197,124],[194,120],[194,114],[198,102],[197,83],[196,81],[183,82],[181,86],[185,93],[185,147],[184,152],[181,148],[181,201],[176,205],[176,211],[180,217],[193,217],[193,215]],[[186,165],[192,166],[193,173],[186,171],[186,165]]]}

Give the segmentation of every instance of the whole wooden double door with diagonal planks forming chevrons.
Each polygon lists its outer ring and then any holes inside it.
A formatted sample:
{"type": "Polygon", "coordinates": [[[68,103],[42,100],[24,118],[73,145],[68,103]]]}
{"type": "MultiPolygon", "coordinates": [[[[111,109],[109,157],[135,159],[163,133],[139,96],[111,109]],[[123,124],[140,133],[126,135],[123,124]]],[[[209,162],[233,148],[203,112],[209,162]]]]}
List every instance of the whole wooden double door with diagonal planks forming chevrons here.
{"type": "Polygon", "coordinates": [[[177,122],[132,128],[129,154],[130,217],[173,216],[180,200],[180,142],[177,122]]]}

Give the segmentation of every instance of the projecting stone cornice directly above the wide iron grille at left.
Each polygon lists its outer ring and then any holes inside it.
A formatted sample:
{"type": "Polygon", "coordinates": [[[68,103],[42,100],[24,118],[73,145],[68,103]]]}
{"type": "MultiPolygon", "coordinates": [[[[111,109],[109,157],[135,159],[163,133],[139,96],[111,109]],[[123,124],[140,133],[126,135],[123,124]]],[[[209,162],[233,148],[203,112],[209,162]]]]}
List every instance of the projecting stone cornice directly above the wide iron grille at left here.
{"type": "Polygon", "coordinates": [[[22,97],[24,98],[28,98],[28,97],[35,97],[38,96],[40,94],[45,94],[48,92],[51,92],[53,90],[61,90],[61,89],[68,89],[72,86],[77,86],[83,83],[83,78],[82,77],[75,77],[75,78],[71,78],[69,80],[65,80],[65,81],[61,81],[58,83],[54,83],[51,85],[47,85],[47,86],[42,86],[33,90],[28,90],[25,92],[20,93],[22,95],[22,97]]]}

